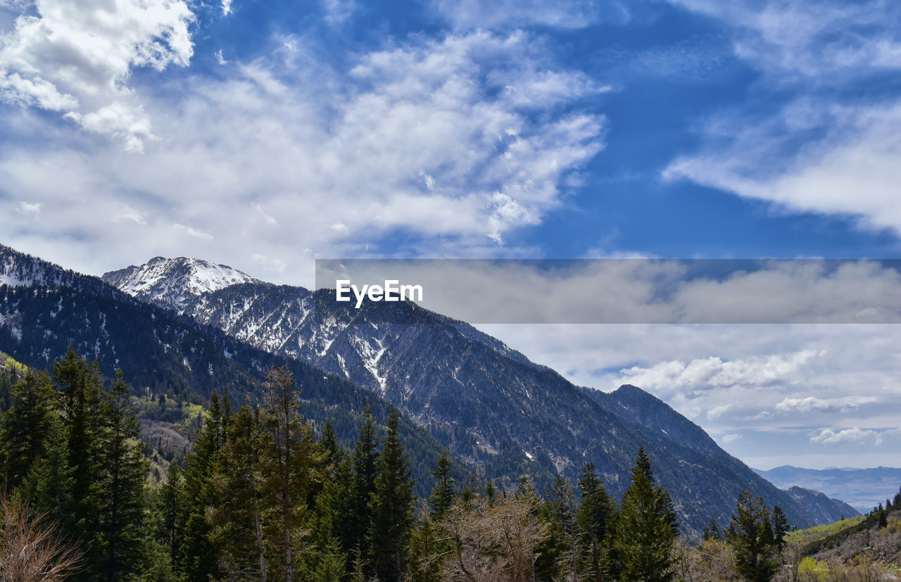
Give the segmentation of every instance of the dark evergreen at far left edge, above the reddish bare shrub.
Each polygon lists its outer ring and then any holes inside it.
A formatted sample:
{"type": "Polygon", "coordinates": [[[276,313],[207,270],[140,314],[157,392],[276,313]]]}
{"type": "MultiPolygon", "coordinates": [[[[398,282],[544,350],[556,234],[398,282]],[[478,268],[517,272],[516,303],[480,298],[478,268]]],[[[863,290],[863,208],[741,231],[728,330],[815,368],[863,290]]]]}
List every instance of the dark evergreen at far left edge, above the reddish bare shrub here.
{"type": "Polygon", "coordinates": [[[32,464],[47,455],[47,441],[54,422],[50,378],[29,370],[13,387],[10,408],[0,431],[0,462],[7,487],[18,487],[32,464]]]}

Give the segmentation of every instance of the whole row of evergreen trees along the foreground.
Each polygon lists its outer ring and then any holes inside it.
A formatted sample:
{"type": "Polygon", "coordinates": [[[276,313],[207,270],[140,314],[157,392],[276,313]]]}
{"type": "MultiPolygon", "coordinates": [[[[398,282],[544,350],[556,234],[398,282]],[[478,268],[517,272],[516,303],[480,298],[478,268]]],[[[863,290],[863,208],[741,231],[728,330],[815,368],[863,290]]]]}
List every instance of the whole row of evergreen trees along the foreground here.
{"type": "Polygon", "coordinates": [[[511,490],[459,484],[446,452],[417,498],[396,411],[381,439],[367,411],[346,449],[331,424],[317,433],[305,419],[287,368],[269,369],[264,388],[237,408],[214,393],[191,452],[150,487],[121,373],[105,386],[73,350],[50,375],[27,371],[0,429],[0,523],[20,523],[4,525],[0,578],[14,563],[4,556],[26,555],[11,541],[28,523],[47,532],[31,547],[55,569],[13,579],[717,579],[692,565],[704,544],[732,549],[737,579],[778,570],[778,506],[744,492],[724,531],[711,523],[688,547],[642,449],[618,503],[591,463],[539,495],[529,477],[511,490]]]}

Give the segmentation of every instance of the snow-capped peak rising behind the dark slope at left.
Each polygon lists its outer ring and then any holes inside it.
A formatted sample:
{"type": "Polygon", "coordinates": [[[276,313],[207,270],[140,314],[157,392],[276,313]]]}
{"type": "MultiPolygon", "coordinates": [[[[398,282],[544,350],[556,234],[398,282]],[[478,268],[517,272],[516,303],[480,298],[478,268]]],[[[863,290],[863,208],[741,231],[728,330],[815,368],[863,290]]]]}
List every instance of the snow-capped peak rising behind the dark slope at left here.
{"type": "Polygon", "coordinates": [[[106,283],[143,301],[181,309],[188,300],[227,286],[262,281],[203,259],[154,257],[138,267],[105,273],[106,283]]]}

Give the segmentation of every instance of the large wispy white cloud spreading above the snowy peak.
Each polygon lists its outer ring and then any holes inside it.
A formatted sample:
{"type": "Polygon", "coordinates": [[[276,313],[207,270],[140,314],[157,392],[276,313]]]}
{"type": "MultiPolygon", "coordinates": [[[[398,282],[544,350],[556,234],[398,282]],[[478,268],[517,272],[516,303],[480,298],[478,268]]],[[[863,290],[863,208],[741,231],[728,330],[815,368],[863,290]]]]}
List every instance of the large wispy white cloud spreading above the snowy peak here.
{"type": "MultiPolygon", "coordinates": [[[[378,252],[398,231],[414,241],[405,250],[413,254],[496,249],[492,237],[502,241],[559,205],[569,174],[603,147],[604,119],[579,110],[582,94],[558,96],[536,114],[489,78],[498,68],[505,84],[534,71],[581,78],[522,32],[416,39],[359,55],[347,70],[329,68],[308,39],[273,42],[294,49],[277,50],[274,62],[235,61],[220,79],[193,77],[174,101],[145,101],[145,117],[109,108],[90,119],[96,131],[142,141],[143,156],[93,142],[84,156],[85,144],[63,128],[64,139],[45,150],[0,154],[5,187],[46,200],[48,235],[77,224],[86,233],[78,245],[104,249],[73,253],[73,267],[99,271],[167,252],[250,263],[253,254],[285,257],[287,247],[311,254],[283,258],[289,265],[278,277],[309,284],[296,273],[314,254],[378,252]],[[159,141],[146,139],[147,119],[159,141]],[[86,212],[77,196],[130,205],[146,220],[144,242],[111,250],[103,242],[116,236],[109,217],[86,212]],[[254,220],[234,212],[248,205],[254,220]],[[173,223],[200,236],[170,237],[173,223]],[[347,230],[332,229],[339,223],[347,230]],[[134,255],[150,241],[152,250],[134,255]],[[89,256],[106,264],[77,264],[89,256]]],[[[15,233],[5,241],[16,244],[15,233]]]]}

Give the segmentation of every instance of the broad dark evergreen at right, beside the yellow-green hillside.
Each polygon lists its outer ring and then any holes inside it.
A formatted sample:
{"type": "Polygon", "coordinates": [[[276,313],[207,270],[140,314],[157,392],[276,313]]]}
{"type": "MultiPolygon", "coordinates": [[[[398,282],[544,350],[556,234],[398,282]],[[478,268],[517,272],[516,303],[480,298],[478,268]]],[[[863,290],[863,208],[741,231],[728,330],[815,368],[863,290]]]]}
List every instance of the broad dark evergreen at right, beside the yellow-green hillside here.
{"type": "Polygon", "coordinates": [[[778,563],[772,559],[774,537],[763,498],[745,489],[735,506],[726,541],[735,550],[736,569],[749,582],[772,579],[778,563]]]}

